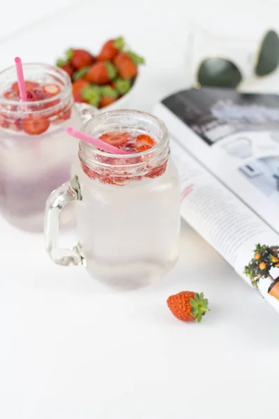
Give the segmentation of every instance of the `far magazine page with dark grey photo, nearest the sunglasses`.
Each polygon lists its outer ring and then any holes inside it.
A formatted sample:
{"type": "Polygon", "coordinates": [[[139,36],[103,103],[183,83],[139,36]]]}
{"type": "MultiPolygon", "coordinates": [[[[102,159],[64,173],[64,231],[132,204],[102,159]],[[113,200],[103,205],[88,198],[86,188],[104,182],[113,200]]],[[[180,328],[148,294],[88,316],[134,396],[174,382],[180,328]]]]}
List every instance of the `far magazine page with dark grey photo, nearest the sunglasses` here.
{"type": "Polygon", "coordinates": [[[279,233],[279,97],[190,89],[158,116],[176,140],[279,233]]]}

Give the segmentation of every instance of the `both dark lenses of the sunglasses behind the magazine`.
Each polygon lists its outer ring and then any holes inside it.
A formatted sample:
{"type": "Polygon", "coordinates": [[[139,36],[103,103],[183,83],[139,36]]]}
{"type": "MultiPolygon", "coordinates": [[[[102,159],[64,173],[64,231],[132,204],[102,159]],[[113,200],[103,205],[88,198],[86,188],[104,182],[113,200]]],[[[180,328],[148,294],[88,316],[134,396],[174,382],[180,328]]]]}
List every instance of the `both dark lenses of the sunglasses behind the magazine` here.
{"type": "MultiPolygon", "coordinates": [[[[262,77],[276,70],[279,64],[279,37],[268,31],[259,45],[255,60],[255,75],[262,77]]],[[[202,60],[197,69],[196,87],[230,87],[235,89],[243,80],[239,68],[229,59],[210,57],[202,60]]]]}

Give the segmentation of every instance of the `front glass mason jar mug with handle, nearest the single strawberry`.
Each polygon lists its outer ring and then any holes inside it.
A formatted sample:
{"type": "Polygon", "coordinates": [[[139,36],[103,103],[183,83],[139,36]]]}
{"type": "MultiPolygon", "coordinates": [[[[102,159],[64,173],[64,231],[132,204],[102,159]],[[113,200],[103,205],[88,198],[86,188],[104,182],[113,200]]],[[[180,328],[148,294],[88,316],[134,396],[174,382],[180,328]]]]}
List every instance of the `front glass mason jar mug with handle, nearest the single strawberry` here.
{"type": "Polygon", "coordinates": [[[151,284],[178,256],[180,184],[169,159],[167,128],[153,115],[117,110],[93,117],[82,131],[97,138],[146,134],[156,145],[115,155],[80,142],[75,176],[47,200],[47,252],[55,263],[84,265],[92,277],[112,286],[151,284]],[[59,249],[59,214],[73,200],[80,201],[75,205],[79,242],[73,249],[59,249]]]}

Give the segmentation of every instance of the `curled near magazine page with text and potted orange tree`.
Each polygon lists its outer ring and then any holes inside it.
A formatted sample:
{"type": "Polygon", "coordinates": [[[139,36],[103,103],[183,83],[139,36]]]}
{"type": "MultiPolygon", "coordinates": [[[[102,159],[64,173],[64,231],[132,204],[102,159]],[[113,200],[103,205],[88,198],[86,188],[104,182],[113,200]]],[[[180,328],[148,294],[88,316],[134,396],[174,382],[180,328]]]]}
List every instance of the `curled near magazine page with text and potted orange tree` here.
{"type": "Polygon", "coordinates": [[[171,149],[181,216],[279,312],[279,235],[174,139],[171,149]]]}

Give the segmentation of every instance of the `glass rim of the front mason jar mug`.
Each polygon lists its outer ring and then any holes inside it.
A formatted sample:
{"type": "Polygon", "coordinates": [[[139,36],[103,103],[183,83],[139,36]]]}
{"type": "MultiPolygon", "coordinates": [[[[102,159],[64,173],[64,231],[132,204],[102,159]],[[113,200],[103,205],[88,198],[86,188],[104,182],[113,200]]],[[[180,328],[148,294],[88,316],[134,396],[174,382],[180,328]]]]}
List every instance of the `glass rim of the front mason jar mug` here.
{"type": "Polygon", "coordinates": [[[109,152],[103,152],[102,150],[98,149],[97,147],[94,147],[93,145],[90,145],[89,143],[80,141],[80,153],[85,154],[87,159],[90,159],[90,157],[93,156],[101,156],[101,157],[109,157],[112,159],[121,159],[124,161],[129,161],[129,159],[135,159],[135,157],[141,157],[146,156],[151,153],[160,152],[160,149],[164,148],[166,145],[166,142],[168,140],[168,131],[167,126],[162,121],[162,119],[156,117],[155,115],[152,115],[148,112],[144,112],[141,110],[131,110],[131,109],[121,109],[121,110],[108,110],[107,112],[99,112],[97,115],[89,119],[83,126],[82,126],[82,132],[87,133],[91,135],[86,128],[89,128],[91,124],[96,122],[97,118],[103,118],[107,115],[112,115],[112,117],[116,117],[119,114],[123,114],[125,112],[127,115],[135,115],[137,117],[148,117],[149,119],[152,119],[153,122],[156,122],[158,124],[158,127],[162,130],[162,140],[160,140],[154,147],[151,149],[147,149],[143,152],[137,152],[137,153],[129,153],[129,154],[113,154],[109,152]],[[90,156],[91,154],[91,156],[90,156]]]}

